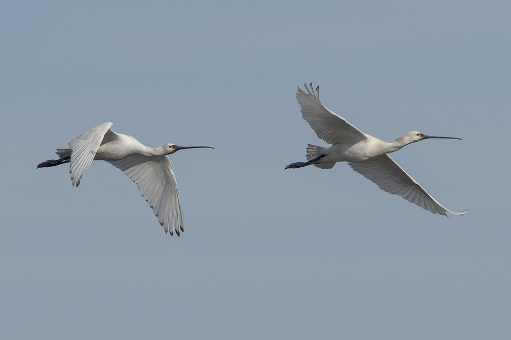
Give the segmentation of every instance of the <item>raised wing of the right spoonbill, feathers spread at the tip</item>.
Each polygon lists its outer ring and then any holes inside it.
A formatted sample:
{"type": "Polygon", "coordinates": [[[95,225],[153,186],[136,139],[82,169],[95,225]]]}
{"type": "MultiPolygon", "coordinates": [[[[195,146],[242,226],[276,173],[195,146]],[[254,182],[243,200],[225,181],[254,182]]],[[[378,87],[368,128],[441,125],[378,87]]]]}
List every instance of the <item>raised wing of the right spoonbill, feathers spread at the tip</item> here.
{"type": "Polygon", "coordinates": [[[307,84],[307,91],[298,87],[296,99],[301,107],[301,115],[311,125],[318,138],[329,144],[356,144],[366,138],[366,135],[358,128],[350,124],[341,116],[330,111],[319,101],[319,86],[316,92],[307,84]]]}

